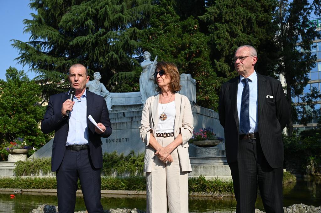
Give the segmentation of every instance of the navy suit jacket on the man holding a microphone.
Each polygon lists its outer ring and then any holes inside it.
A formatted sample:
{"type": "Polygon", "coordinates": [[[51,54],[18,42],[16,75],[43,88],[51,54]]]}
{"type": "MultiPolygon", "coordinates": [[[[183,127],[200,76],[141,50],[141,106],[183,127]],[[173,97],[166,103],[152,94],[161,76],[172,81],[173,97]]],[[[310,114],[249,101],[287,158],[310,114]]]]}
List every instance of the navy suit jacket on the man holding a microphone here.
{"type": "MultiPolygon", "coordinates": [[[[100,95],[87,90],[87,127],[89,136],[89,150],[92,164],[95,168],[102,168],[102,142],[101,137],[109,137],[112,132],[106,102],[100,95]],[[91,115],[97,123],[102,123],[106,130],[103,134],[95,132],[95,126],[89,121],[91,115]]],[[[56,171],[65,155],[66,141],[69,130],[68,118],[63,118],[61,108],[63,102],[69,98],[68,92],[52,95],[49,99],[47,111],[41,121],[41,131],[48,134],[55,131],[55,138],[52,144],[51,171],[56,171]]],[[[85,116],[85,115],[84,115],[85,116]]]]}

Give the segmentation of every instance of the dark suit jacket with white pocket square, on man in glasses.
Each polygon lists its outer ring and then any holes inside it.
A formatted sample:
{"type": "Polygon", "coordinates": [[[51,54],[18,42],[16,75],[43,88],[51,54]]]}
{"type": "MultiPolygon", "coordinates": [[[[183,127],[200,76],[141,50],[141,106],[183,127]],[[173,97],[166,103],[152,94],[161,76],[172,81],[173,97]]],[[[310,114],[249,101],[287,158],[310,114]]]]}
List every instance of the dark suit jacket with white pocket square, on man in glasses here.
{"type": "MultiPolygon", "coordinates": [[[[222,84],[219,100],[219,118],[224,127],[225,149],[228,162],[237,160],[239,117],[237,91],[239,76],[222,84]]],[[[257,73],[257,119],[260,143],[267,162],[272,168],[283,165],[282,129],[289,121],[289,107],[281,82],[257,73]],[[266,98],[272,95],[273,98],[266,98]]]]}

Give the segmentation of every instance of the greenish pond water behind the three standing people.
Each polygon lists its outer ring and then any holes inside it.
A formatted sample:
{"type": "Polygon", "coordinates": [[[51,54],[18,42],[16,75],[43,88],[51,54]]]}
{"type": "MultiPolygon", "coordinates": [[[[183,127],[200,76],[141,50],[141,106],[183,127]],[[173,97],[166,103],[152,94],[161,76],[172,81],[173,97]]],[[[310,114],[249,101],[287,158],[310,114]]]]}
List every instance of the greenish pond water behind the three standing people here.
{"type": "MultiPolygon", "coordinates": [[[[29,213],[40,204],[57,205],[57,197],[53,195],[30,195],[18,194],[10,199],[7,192],[0,192],[0,212],[5,213],[29,213]]],[[[283,187],[284,206],[290,206],[295,203],[304,203],[306,205],[321,205],[321,179],[298,179],[294,183],[283,187]]],[[[106,195],[101,198],[104,209],[111,208],[138,208],[146,210],[146,198],[144,196],[115,196],[106,195]]],[[[190,197],[189,212],[231,212],[235,211],[236,201],[234,198],[213,199],[209,197],[190,197]]],[[[256,208],[264,210],[262,200],[258,195],[256,208]]],[[[82,197],[76,199],[76,211],[85,209],[82,197]]]]}

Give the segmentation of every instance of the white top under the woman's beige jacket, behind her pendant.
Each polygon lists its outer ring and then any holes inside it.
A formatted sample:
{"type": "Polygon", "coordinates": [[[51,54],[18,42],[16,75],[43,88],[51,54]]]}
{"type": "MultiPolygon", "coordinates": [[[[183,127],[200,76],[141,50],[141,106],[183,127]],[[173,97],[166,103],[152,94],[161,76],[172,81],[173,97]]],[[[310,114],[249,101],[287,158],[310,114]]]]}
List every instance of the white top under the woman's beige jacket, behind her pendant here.
{"type": "Polygon", "coordinates": [[[174,132],[174,121],[176,115],[175,109],[175,101],[169,103],[163,103],[163,107],[161,103],[158,103],[158,114],[164,113],[167,115],[166,120],[158,119],[158,126],[156,128],[156,133],[164,133],[164,132],[174,132]]]}

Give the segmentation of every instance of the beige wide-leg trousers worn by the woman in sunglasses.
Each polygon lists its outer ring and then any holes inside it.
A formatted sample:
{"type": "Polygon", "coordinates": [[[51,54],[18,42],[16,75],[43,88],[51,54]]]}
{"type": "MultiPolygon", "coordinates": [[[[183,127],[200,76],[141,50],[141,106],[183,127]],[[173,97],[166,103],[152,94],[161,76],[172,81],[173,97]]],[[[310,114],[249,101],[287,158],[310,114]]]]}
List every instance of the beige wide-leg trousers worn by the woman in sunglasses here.
{"type": "MultiPolygon", "coordinates": [[[[174,138],[156,138],[161,146],[167,146],[174,138]]],[[[153,157],[152,172],[146,172],[147,213],[188,213],[188,172],[182,172],[178,152],[171,156],[172,163],[165,164],[153,157]]]]}

